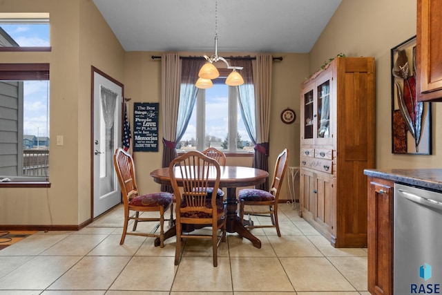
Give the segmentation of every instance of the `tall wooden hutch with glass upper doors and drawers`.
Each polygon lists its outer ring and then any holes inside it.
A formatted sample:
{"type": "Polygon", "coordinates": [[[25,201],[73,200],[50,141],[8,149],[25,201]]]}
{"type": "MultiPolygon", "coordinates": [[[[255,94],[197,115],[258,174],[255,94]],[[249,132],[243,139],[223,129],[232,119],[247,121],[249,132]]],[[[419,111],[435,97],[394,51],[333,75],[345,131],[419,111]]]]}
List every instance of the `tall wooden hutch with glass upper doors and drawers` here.
{"type": "Polygon", "coordinates": [[[336,57],[301,84],[300,216],[334,247],[367,246],[375,81],[373,57],[336,57]]]}

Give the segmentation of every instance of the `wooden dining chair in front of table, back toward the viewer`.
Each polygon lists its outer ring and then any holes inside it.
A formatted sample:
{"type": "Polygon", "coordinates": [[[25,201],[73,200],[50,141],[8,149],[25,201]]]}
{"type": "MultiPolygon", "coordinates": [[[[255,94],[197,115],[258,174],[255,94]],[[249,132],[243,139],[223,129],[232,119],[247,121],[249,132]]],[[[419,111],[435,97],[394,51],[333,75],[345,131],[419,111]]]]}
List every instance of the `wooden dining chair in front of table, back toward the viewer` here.
{"type": "Polygon", "coordinates": [[[214,190],[220,185],[220,164],[199,151],[189,151],[171,162],[169,174],[176,199],[175,265],[180,263],[183,238],[209,238],[212,240],[213,266],[216,267],[218,245],[220,241],[226,241],[226,204],[218,198],[208,198],[207,191],[209,179],[214,190]],[[183,231],[186,225],[212,227],[212,232],[211,235],[186,232],[183,231]]]}

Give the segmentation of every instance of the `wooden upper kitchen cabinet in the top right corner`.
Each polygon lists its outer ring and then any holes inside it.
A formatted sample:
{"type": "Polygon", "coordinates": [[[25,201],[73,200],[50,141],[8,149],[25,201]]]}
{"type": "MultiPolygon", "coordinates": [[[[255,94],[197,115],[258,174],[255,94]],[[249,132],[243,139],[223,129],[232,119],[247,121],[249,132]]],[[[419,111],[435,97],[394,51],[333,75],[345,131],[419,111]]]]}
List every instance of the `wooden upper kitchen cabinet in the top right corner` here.
{"type": "Polygon", "coordinates": [[[416,97],[442,101],[442,1],[417,0],[416,97]]]}

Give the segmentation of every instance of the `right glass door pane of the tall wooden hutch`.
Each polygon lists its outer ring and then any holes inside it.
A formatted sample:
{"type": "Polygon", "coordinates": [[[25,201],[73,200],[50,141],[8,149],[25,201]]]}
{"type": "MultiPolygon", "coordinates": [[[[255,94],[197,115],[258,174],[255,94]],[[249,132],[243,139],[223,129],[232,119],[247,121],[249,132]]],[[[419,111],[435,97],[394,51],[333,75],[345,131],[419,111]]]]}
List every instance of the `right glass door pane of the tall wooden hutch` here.
{"type": "Polygon", "coordinates": [[[330,81],[318,86],[318,115],[316,116],[318,138],[330,137],[330,81]]]}

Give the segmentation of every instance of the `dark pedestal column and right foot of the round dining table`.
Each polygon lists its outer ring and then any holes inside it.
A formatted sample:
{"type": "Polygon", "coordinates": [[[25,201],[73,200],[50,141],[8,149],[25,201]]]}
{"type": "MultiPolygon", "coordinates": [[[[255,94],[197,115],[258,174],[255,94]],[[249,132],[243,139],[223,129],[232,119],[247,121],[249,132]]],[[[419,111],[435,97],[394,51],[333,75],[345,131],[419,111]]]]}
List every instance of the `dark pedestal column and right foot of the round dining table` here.
{"type": "Polygon", "coordinates": [[[254,247],[258,249],[261,247],[261,241],[253,236],[251,232],[243,225],[243,220],[238,216],[236,210],[238,209],[238,200],[236,199],[236,187],[227,188],[227,222],[226,230],[229,233],[237,233],[242,238],[247,238],[251,241],[254,247]]]}

